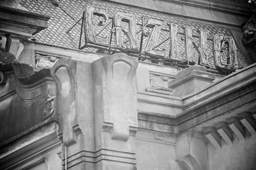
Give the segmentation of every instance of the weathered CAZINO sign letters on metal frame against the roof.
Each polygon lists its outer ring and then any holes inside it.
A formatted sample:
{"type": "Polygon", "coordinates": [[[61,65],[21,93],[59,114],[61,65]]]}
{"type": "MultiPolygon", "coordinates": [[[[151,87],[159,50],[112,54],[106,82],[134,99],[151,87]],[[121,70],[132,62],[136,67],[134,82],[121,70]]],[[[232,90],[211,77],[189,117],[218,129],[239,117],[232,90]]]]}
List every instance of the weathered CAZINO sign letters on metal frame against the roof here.
{"type": "MultiPolygon", "coordinates": [[[[81,27],[81,35],[79,42],[79,49],[85,47],[99,48],[110,52],[126,52],[139,59],[161,60],[162,62],[169,62],[174,66],[188,66],[193,64],[199,64],[205,67],[211,67],[209,65],[209,48],[207,47],[207,34],[209,31],[205,29],[198,29],[198,43],[193,38],[193,30],[191,26],[182,26],[184,30],[184,48],[185,58],[179,58],[179,41],[178,41],[178,29],[180,25],[168,23],[169,27],[169,53],[166,55],[164,50],[156,50],[157,41],[161,34],[163,21],[154,18],[142,17],[141,18],[141,38],[140,43],[137,41],[138,32],[136,32],[136,15],[124,12],[116,12],[111,22],[108,23],[108,10],[98,6],[88,6],[83,14],[83,23],[81,27]],[[95,24],[95,17],[101,18],[97,24],[95,24]],[[125,26],[124,23],[125,22],[125,26]],[[101,26],[105,29],[110,23],[112,23],[109,36],[99,36],[96,34],[97,27],[101,26]],[[147,29],[150,28],[150,32],[147,29]],[[84,31],[84,32],[83,32],[84,31]],[[84,43],[81,45],[81,38],[84,34],[84,43]],[[115,38],[114,45],[112,38],[115,38]],[[125,43],[124,37],[126,37],[128,43],[125,43]],[[147,42],[143,41],[143,38],[147,38],[147,42]],[[142,51],[142,45],[145,43],[145,48],[142,51]],[[193,49],[198,53],[198,57],[194,57],[193,49]],[[149,57],[149,58],[148,58],[149,57]]],[[[103,30],[102,29],[102,30],[103,30]]],[[[101,30],[101,31],[102,31],[101,30]]],[[[100,32],[101,32],[100,31],[100,32]]],[[[215,34],[212,39],[212,51],[214,69],[220,72],[230,73],[239,68],[237,64],[237,49],[234,39],[231,36],[225,36],[224,34],[215,34]],[[223,58],[223,50],[226,50],[225,59],[223,58]]]]}

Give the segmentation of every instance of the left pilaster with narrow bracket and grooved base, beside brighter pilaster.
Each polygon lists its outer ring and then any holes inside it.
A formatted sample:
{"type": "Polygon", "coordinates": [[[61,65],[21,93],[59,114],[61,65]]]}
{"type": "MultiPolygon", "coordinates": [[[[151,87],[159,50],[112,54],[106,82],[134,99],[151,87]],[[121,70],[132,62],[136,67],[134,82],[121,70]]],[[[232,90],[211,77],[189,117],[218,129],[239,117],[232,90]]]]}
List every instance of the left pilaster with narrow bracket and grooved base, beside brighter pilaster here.
{"type": "Polygon", "coordinates": [[[56,82],[62,166],[94,169],[92,63],[60,59],[52,67],[51,75],[56,82]]]}

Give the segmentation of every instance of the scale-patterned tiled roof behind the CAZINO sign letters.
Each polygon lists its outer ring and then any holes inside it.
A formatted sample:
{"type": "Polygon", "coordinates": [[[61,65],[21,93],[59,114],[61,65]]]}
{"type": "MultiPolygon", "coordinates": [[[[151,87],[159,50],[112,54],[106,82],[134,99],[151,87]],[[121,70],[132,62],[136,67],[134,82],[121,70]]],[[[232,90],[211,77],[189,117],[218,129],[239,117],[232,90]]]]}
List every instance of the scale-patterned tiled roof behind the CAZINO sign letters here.
{"type": "MultiPolygon", "coordinates": [[[[42,13],[47,14],[51,17],[49,20],[49,27],[47,29],[44,29],[41,32],[38,32],[38,34],[35,35],[35,38],[37,41],[44,42],[44,43],[50,43],[53,45],[60,45],[70,48],[78,48],[79,45],[79,35],[81,30],[81,22],[77,24],[70,32],[67,33],[68,29],[72,27],[83,15],[83,11],[86,9],[86,6],[89,5],[95,5],[95,6],[101,6],[108,9],[108,16],[113,17],[113,15],[117,11],[123,11],[125,13],[134,13],[134,15],[138,16],[137,22],[137,32],[141,29],[141,17],[150,17],[150,18],[156,18],[159,20],[163,20],[163,31],[161,32],[158,43],[163,42],[166,38],[169,36],[168,32],[168,23],[172,22],[174,24],[178,24],[180,26],[182,25],[189,25],[195,28],[193,31],[194,41],[198,43],[198,33],[196,32],[198,29],[206,29],[209,31],[208,34],[208,56],[210,57],[209,62],[211,66],[213,66],[213,53],[212,53],[212,39],[214,34],[225,34],[225,36],[232,36],[230,30],[227,27],[221,27],[216,25],[210,25],[205,24],[202,22],[195,22],[193,20],[189,20],[186,18],[181,17],[175,17],[172,15],[167,15],[163,13],[157,13],[154,11],[149,10],[142,10],[141,8],[131,8],[129,6],[124,6],[122,4],[113,4],[113,3],[107,3],[106,1],[83,1],[83,0],[22,0],[20,2],[22,6],[27,8],[29,11],[34,11],[36,13],[42,13]],[[57,2],[58,6],[54,5],[52,2],[57,2]]],[[[109,19],[109,22],[111,20],[109,19]]],[[[100,31],[100,27],[97,29],[96,32],[100,31]]],[[[109,36],[109,32],[111,30],[111,24],[109,24],[108,27],[104,31],[102,31],[99,36],[109,36]]],[[[180,57],[185,57],[184,55],[184,41],[182,41],[181,37],[184,36],[182,27],[179,27],[179,55],[180,57]]],[[[140,37],[141,32],[138,33],[137,39],[138,44],[140,44],[140,37]]],[[[147,38],[143,41],[143,49],[145,49],[147,42],[147,38]]],[[[112,41],[113,43],[113,41],[112,41]]],[[[159,46],[157,49],[166,49],[166,55],[169,53],[169,41],[166,41],[161,46],[159,46]]],[[[95,52],[96,49],[93,48],[86,48],[85,50],[95,52]]],[[[198,57],[198,53],[195,52],[195,57],[198,57]]],[[[247,66],[247,62],[239,48],[237,48],[237,58],[239,62],[239,66],[247,66]]]]}

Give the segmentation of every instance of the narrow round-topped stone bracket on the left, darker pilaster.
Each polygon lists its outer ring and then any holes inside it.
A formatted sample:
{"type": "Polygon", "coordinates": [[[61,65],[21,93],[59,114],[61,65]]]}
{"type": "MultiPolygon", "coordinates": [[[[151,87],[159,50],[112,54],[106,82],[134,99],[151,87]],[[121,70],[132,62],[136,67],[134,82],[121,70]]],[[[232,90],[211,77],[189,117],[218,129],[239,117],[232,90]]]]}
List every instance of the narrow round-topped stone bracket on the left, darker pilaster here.
{"type": "Polygon", "coordinates": [[[51,69],[56,82],[56,113],[61,118],[63,143],[68,146],[76,143],[76,61],[60,59],[51,69]],[[73,132],[75,131],[75,133],[73,132]]]}

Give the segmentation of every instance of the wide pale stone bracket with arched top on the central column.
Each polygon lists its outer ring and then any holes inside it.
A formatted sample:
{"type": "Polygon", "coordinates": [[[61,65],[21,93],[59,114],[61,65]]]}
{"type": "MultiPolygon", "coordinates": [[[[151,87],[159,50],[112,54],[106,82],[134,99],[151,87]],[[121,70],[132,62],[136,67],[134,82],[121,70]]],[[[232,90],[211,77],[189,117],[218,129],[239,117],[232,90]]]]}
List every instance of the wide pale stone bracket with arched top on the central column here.
{"type": "Polygon", "coordinates": [[[112,139],[127,141],[130,127],[138,127],[136,68],[138,62],[123,53],[93,62],[96,114],[103,118],[100,129],[113,132],[112,139]],[[98,113],[99,112],[99,113],[98,113]]]}

